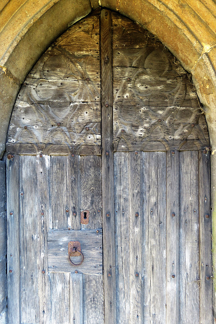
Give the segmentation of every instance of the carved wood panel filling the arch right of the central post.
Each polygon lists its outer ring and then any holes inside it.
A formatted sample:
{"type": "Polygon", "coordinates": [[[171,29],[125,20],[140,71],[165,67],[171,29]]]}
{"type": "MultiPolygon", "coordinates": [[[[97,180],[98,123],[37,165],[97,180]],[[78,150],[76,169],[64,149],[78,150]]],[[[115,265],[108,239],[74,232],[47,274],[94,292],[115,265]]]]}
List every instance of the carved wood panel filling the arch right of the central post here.
{"type": "Polygon", "coordinates": [[[148,31],[113,14],[114,150],[209,145],[189,74],[148,31]]]}

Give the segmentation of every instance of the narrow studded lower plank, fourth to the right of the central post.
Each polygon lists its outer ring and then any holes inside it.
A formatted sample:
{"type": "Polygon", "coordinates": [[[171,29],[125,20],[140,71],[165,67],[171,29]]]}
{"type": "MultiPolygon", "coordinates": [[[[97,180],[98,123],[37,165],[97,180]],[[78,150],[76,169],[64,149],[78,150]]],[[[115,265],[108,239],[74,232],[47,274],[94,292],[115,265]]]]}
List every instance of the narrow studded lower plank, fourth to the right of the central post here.
{"type": "Polygon", "coordinates": [[[179,324],[179,152],[166,153],[166,324],[179,324]]]}

